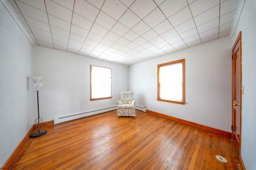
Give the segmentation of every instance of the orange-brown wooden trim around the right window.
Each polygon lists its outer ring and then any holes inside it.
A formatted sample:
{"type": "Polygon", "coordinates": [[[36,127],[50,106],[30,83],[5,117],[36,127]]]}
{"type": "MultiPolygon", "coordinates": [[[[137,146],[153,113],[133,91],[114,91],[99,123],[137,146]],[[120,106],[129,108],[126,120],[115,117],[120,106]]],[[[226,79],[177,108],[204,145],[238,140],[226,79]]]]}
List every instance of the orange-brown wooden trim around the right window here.
{"type": "Polygon", "coordinates": [[[171,61],[168,63],[158,64],[157,65],[157,100],[161,102],[169,102],[169,103],[175,103],[175,104],[185,104],[185,59],[180,59],[176,61],[171,61]],[[159,81],[159,73],[160,73],[160,67],[171,65],[171,64],[177,64],[182,63],[182,102],[175,101],[175,100],[165,100],[160,98],[160,81],[159,81]]]}

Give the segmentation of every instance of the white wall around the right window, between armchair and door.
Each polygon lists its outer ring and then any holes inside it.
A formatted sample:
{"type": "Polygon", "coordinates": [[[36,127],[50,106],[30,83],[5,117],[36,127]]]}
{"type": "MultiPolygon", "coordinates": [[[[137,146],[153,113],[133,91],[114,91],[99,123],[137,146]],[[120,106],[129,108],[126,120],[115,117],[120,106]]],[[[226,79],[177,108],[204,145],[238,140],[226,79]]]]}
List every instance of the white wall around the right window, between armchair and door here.
{"type": "Polygon", "coordinates": [[[129,67],[138,106],[231,132],[232,39],[226,38],[129,67]],[[185,59],[185,105],[157,101],[157,65],[185,59]]]}

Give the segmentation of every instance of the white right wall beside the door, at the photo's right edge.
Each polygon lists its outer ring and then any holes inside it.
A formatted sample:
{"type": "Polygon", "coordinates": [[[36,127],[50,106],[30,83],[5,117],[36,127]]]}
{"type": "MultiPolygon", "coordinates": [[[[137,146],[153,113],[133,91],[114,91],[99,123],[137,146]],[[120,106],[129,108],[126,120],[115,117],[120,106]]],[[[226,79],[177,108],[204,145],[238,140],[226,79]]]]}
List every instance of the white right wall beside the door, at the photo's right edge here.
{"type": "MultiPolygon", "coordinates": [[[[243,2],[243,1],[242,1],[243,2]]],[[[246,170],[256,168],[256,1],[246,0],[238,25],[234,32],[233,44],[242,31],[242,132],[241,156],[246,170]]]]}

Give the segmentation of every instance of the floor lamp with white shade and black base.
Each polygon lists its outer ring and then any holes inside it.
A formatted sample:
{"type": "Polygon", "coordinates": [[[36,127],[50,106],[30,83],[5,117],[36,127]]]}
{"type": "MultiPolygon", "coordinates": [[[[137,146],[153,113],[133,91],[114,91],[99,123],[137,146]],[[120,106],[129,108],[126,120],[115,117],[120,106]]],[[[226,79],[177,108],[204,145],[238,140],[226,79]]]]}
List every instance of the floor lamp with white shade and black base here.
{"type": "Polygon", "coordinates": [[[42,83],[40,83],[40,81],[42,80],[43,77],[32,76],[30,78],[32,80],[34,80],[34,82],[35,82],[35,84],[32,86],[32,89],[36,90],[36,94],[37,94],[37,111],[38,111],[38,119],[35,119],[35,125],[38,125],[38,131],[35,132],[35,133],[32,133],[32,135],[30,135],[30,137],[40,137],[40,136],[44,135],[47,132],[46,130],[41,130],[40,131],[40,121],[42,123],[43,119],[40,118],[40,116],[39,116],[38,90],[42,86],[42,83]]]}

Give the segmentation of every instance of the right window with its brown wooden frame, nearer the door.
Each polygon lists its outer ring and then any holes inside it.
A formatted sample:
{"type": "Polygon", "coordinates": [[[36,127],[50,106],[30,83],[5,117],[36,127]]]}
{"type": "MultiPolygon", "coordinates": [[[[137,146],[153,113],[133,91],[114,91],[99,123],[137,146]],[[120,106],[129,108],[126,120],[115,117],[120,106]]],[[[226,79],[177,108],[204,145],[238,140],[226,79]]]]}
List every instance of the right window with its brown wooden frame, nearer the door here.
{"type": "Polygon", "coordinates": [[[158,64],[157,100],[185,104],[185,59],[158,64]]]}

